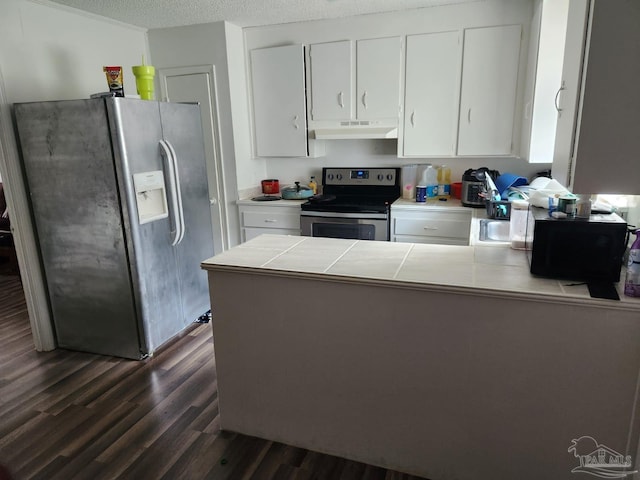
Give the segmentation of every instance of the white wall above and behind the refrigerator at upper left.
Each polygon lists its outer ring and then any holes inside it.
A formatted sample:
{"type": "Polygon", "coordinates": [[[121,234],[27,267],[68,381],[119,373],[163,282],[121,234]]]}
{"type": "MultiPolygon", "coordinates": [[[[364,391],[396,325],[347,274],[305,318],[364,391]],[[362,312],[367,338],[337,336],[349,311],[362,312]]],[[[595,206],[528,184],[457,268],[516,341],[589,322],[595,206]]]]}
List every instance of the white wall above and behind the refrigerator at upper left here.
{"type": "Polygon", "coordinates": [[[121,65],[125,94],[135,95],[131,67],[143,54],[149,58],[144,29],[51,2],[0,2],[0,68],[10,103],[108,91],[105,65],[121,65]]]}

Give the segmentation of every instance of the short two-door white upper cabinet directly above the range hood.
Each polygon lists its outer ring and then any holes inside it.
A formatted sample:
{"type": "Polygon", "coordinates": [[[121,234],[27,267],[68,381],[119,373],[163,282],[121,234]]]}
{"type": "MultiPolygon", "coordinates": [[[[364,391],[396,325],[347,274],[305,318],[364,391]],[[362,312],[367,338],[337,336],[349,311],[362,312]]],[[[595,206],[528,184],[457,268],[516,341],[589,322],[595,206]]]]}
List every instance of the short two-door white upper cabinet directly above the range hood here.
{"type": "Polygon", "coordinates": [[[400,37],[311,45],[311,120],[397,119],[401,47],[400,37]]]}

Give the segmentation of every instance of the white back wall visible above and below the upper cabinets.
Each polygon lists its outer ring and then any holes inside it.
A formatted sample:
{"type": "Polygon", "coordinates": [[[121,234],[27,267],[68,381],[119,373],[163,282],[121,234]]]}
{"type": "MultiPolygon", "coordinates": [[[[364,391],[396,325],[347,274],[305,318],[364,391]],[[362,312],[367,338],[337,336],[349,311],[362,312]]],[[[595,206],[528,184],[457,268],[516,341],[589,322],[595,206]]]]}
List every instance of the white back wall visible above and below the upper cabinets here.
{"type": "MultiPolygon", "coordinates": [[[[528,34],[533,15],[530,0],[487,0],[434,8],[422,8],[385,14],[363,15],[332,20],[293,23],[275,26],[245,28],[245,56],[255,48],[301,43],[328,42],[345,39],[375,38],[391,35],[447,31],[464,27],[521,23],[524,37],[522,55],[528,52],[528,34]]],[[[522,98],[526,74],[526,59],[520,71],[518,98],[522,98]]],[[[247,60],[247,71],[250,65],[247,60]]],[[[520,102],[521,103],[521,102],[520,102]]],[[[516,111],[515,132],[520,131],[521,105],[516,111]]],[[[307,181],[310,175],[319,176],[322,167],[332,166],[401,166],[407,163],[446,163],[454,179],[459,179],[467,168],[487,166],[500,172],[512,172],[531,177],[535,172],[550,168],[550,164],[531,165],[525,160],[509,158],[455,158],[455,159],[401,159],[397,157],[395,140],[328,140],[326,156],[321,158],[269,158],[267,177],[278,178],[281,183],[307,181]]],[[[243,172],[239,171],[239,174],[243,172]]],[[[239,178],[238,183],[248,183],[239,178]]]]}

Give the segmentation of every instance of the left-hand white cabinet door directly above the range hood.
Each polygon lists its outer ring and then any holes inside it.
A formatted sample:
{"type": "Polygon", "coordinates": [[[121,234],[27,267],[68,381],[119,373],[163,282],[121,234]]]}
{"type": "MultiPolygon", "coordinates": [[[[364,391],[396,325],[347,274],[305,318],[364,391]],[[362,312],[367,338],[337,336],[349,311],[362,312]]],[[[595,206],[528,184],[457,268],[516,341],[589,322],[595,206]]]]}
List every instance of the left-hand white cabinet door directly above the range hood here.
{"type": "Polygon", "coordinates": [[[353,62],[351,42],[311,45],[311,118],[349,120],[352,117],[353,62]]]}

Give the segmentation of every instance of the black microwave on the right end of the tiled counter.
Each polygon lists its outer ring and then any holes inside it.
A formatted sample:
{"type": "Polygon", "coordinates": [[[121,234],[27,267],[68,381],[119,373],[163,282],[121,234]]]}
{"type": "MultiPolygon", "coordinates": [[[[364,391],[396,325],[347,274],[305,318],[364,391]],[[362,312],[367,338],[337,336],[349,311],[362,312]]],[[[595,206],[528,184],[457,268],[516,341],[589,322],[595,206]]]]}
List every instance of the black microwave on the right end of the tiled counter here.
{"type": "Polygon", "coordinates": [[[531,273],[542,277],[608,283],[620,280],[627,223],[615,213],[552,218],[529,208],[527,250],[531,273]]]}

